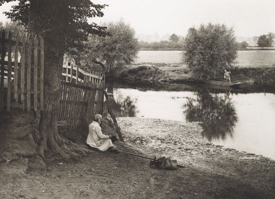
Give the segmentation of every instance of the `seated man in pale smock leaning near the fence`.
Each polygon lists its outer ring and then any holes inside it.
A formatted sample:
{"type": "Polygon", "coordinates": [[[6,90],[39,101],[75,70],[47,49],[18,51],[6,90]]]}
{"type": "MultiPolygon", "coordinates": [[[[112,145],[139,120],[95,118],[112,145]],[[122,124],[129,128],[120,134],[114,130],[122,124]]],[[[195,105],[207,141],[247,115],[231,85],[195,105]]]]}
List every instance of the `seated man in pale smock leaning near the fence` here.
{"type": "Polygon", "coordinates": [[[100,123],[102,121],[102,116],[96,114],[94,116],[94,121],[89,125],[89,134],[86,140],[88,146],[96,148],[100,151],[106,151],[110,149],[112,152],[119,153],[115,145],[112,143],[112,135],[102,134],[100,123]]]}

